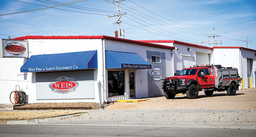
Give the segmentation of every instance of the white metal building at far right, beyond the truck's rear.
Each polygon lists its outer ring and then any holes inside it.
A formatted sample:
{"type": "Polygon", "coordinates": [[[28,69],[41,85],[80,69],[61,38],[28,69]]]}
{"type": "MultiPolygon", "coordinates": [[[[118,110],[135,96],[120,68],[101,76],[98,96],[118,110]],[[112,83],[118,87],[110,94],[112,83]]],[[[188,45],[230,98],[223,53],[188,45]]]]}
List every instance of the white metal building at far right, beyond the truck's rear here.
{"type": "MultiPolygon", "coordinates": [[[[223,67],[236,67],[240,77],[244,78],[244,88],[255,87],[256,74],[256,50],[236,46],[213,47],[213,58],[215,64],[223,67]]],[[[243,84],[241,84],[240,88],[243,84]]]]}

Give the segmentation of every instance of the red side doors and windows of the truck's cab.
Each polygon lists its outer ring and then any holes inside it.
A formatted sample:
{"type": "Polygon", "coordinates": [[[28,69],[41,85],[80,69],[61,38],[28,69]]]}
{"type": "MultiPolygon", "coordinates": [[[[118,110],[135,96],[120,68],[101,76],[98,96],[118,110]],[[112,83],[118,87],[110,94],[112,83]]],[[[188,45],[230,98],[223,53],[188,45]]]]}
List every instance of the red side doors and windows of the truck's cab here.
{"type": "Polygon", "coordinates": [[[201,68],[198,73],[198,83],[200,88],[210,88],[214,87],[214,76],[209,68],[201,68]],[[201,72],[203,72],[204,76],[200,76],[201,72]],[[198,75],[199,74],[199,75],[198,75]]]}

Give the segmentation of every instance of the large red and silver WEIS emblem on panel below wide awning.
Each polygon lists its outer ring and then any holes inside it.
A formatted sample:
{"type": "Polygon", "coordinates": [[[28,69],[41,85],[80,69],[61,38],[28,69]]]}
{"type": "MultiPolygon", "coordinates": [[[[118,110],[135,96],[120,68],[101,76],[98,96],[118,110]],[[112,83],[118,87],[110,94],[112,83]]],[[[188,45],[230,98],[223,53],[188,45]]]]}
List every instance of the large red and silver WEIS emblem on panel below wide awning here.
{"type": "Polygon", "coordinates": [[[51,88],[53,92],[66,94],[76,91],[78,85],[79,84],[75,78],[62,76],[57,79],[53,79],[53,82],[49,84],[49,88],[51,88]]]}

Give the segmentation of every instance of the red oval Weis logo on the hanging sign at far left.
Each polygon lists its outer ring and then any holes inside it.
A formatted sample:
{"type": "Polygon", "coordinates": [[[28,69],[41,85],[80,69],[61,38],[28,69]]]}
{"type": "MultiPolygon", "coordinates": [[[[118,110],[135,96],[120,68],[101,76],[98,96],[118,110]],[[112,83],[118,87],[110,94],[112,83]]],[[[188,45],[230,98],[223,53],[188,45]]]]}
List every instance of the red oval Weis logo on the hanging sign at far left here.
{"type": "Polygon", "coordinates": [[[7,46],[5,47],[5,50],[9,54],[13,54],[13,55],[17,56],[17,55],[20,55],[20,54],[24,54],[24,52],[26,51],[26,48],[23,44],[13,42],[13,43],[8,43],[7,46]]]}

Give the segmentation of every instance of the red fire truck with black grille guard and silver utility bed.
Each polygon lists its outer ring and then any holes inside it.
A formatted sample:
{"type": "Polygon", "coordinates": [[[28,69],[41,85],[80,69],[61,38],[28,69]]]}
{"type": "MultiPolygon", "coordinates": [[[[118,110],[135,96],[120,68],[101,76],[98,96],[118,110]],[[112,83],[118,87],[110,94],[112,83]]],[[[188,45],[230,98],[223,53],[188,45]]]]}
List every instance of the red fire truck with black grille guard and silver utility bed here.
{"type": "Polygon", "coordinates": [[[173,99],[178,93],[195,99],[198,91],[204,91],[208,96],[214,91],[227,91],[228,95],[235,95],[239,90],[239,83],[242,82],[237,68],[221,65],[197,65],[185,68],[174,75],[166,77],[162,82],[163,93],[167,99],[173,99]]]}

